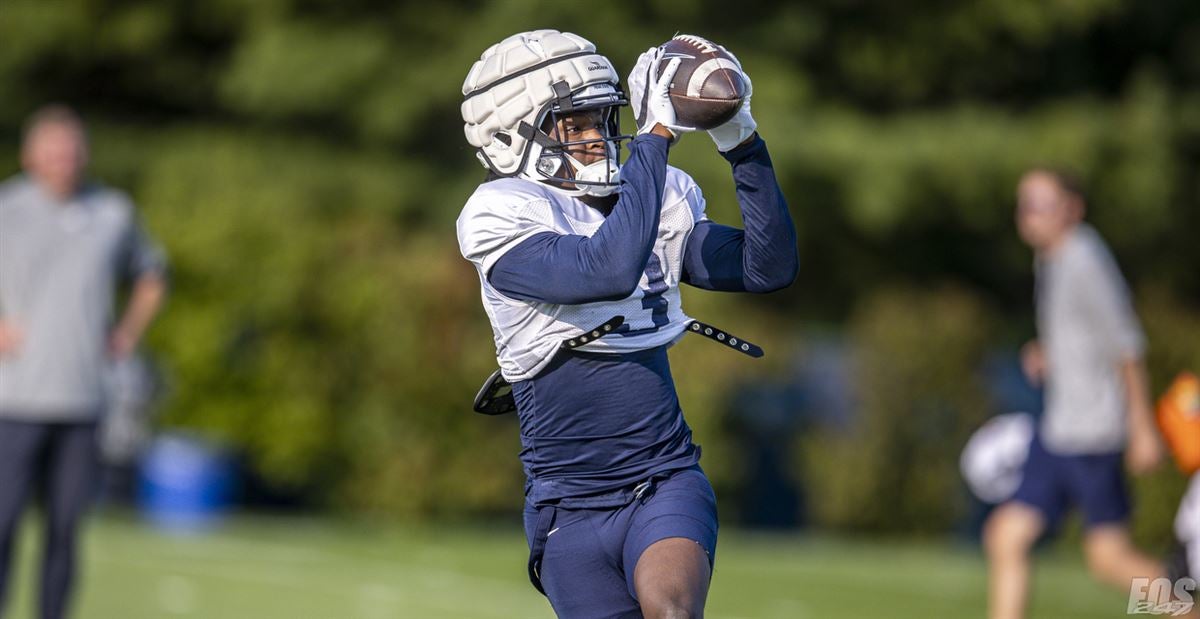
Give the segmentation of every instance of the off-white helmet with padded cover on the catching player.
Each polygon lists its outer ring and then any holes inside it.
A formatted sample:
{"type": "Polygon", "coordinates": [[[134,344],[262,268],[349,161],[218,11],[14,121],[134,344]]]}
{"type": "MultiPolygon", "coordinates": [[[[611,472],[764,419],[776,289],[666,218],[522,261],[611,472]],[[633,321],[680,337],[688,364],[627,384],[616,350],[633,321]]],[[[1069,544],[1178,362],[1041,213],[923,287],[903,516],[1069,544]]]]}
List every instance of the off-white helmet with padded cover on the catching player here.
{"type": "Polygon", "coordinates": [[[610,196],[620,180],[617,71],[588,40],[558,30],[512,35],[487,48],[462,84],[467,142],[498,176],[546,182],[571,196],[610,196]],[[600,138],[556,139],[559,119],[595,112],[600,138]],[[604,143],[605,157],[583,164],[570,151],[604,143]]]}

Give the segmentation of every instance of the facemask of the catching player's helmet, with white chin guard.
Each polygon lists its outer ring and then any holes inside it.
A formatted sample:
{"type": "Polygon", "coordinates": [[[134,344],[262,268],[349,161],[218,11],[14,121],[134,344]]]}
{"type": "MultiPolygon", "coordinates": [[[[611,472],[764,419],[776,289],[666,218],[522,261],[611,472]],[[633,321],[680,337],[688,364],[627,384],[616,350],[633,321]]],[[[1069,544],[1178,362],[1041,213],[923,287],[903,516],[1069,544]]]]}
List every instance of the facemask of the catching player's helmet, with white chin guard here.
{"type": "MultiPolygon", "coordinates": [[[[565,90],[556,84],[556,91],[565,90]]],[[[620,133],[625,95],[612,84],[562,92],[547,106],[530,139],[521,176],[545,182],[569,196],[605,197],[620,187],[620,133]]]]}

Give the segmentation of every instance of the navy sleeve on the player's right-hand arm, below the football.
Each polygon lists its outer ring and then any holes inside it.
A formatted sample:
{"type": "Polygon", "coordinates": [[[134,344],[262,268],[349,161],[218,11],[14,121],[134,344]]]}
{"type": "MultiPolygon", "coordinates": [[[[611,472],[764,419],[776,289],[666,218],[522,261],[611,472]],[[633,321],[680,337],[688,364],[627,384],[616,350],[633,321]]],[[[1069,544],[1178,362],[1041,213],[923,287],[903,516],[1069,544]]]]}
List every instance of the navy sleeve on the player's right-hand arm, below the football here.
{"type": "Polygon", "coordinates": [[[744,230],[712,221],[696,224],[684,252],[683,281],[722,292],[769,293],[796,280],[799,257],[787,200],[775,180],[767,143],[722,152],[733,164],[733,182],[744,230]]]}

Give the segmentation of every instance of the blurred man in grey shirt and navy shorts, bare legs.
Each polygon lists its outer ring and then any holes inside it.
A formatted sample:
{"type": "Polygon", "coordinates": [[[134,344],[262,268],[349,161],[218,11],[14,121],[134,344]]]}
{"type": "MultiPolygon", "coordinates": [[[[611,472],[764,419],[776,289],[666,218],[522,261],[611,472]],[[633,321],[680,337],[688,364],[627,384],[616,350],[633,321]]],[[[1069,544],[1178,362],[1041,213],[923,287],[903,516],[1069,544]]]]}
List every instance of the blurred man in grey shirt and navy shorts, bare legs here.
{"type": "Polygon", "coordinates": [[[1084,192],[1069,175],[1028,170],[1016,200],[1018,232],[1036,256],[1039,337],[1024,347],[1022,367],[1044,384],[1045,408],[1015,495],[984,525],[992,619],[1024,617],[1030,551],[1072,506],[1084,515],[1084,554],[1096,579],[1128,591],[1135,577],[1165,576],[1129,537],[1122,459],[1145,474],[1162,461],[1163,445],[1126,282],[1084,223],[1084,192]]]}

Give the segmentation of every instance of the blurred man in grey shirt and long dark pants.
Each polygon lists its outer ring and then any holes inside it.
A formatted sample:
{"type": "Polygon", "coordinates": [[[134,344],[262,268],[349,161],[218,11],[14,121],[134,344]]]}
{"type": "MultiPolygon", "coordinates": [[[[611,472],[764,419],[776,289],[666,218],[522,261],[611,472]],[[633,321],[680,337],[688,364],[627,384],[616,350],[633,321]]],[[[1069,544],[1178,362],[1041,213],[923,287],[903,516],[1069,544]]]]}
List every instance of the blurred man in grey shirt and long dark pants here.
{"type": "Polygon", "coordinates": [[[0,185],[0,611],[22,511],[43,499],[42,619],[66,615],[79,522],[96,489],[106,366],[127,357],[164,293],[162,252],[122,193],[85,181],[80,118],[29,119],[24,174],[0,185]],[[120,320],[120,281],[132,282],[120,320]]]}

